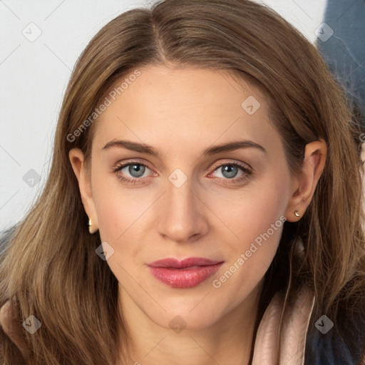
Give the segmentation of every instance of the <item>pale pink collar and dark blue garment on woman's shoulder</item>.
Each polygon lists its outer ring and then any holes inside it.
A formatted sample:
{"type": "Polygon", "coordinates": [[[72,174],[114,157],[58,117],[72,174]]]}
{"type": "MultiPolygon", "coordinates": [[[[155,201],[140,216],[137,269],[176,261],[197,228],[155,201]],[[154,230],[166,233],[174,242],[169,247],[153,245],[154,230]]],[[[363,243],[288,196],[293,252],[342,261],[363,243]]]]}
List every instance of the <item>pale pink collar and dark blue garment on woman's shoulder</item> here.
{"type": "MultiPolygon", "coordinates": [[[[331,329],[322,334],[313,318],[316,298],[303,287],[288,298],[277,292],[269,303],[257,330],[252,365],[365,365],[354,361],[345,341],[331,329]]],[[[359,354],[356,355],[359,358],[359,354]]]]}

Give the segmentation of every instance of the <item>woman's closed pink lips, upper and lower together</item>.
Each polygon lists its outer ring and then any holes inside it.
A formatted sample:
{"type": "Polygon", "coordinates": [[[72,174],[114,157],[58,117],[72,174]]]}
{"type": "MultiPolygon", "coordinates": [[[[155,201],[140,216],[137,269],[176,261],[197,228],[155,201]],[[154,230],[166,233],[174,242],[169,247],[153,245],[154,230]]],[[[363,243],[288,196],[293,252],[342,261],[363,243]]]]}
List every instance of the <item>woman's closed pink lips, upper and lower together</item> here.
{"type": "Polygon", "coordinates": [[[148,264],[156,279],[174,288],[196,287],[220,269],[222,261],[203,257],[178,260],[173,257],[148,264]]]}

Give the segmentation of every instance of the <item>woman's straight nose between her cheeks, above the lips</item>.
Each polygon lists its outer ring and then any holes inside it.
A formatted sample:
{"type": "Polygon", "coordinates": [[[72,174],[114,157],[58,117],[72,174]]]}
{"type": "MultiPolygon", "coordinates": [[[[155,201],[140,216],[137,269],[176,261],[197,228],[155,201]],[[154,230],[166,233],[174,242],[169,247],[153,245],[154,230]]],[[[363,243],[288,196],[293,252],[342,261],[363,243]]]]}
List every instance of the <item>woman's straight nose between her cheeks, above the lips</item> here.
{"type": "Polygon", "coordinates": [[[190,178],[180,187],[170,181],[158,206],[158,232],[177,243],[195,242],[208,232],[207,205],[190,178]]]}

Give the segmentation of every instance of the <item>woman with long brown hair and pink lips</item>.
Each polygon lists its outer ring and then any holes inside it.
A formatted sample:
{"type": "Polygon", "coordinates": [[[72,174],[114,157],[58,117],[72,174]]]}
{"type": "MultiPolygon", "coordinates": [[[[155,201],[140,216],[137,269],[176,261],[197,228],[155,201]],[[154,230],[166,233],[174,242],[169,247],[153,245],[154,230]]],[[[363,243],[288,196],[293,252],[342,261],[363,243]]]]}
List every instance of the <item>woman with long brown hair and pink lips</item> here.
{"type": "Polygon", "coordinates": [[[79,58],[1,261],[5,364],[364,364],[359,128],[251,1],[160,1],[79,58]]]}

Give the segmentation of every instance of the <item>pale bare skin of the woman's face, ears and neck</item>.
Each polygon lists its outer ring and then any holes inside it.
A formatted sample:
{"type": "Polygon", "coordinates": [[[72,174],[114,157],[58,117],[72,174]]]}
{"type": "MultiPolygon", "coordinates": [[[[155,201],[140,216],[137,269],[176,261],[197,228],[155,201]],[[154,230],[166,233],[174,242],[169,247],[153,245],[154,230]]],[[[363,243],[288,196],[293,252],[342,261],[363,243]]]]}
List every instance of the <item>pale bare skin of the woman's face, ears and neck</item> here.
{"type": "Polygon", "coordinates": [[[300,219],[294,212],[302,216],[312,200],[326,144],[309,143],[302,173],[294,176],[257,88],[242,89],[224,71],[151,65],[140,72],[93,125],[89,170],[81,150],[69,153],[93,228],[114,249],[106,264],[120,283],[120,310],[134,344],[130,364],[246,365],[264,274],[282,227],[221,287],[212,281],[280,217],[300,219]],[[252,115],[241,106],[248,96],[261,105],[252,115]],[[144,143],[159,155],[103,149],[113,140],[144,143]],[[265,151],[202,153],[237,140],[250,140],[265,151]],[[131,175],[128,166],[115,173],[120,163],[147,168],[141,177],[131,175]],[[252,174],[237,167],[227,178],[222,167],[232,163],[252,174]],[[187,178],[180,187],[169,180],[175,169],[187,178]],[[139,180],[133,185],[118,175],[139,180]],[[150,274],[147,263],[165,257],[207,257],[224,264],[196,287],[178,289],[150,274]],[[180,333],[169,325],[175,316],[186,326],[180,333]]]}

